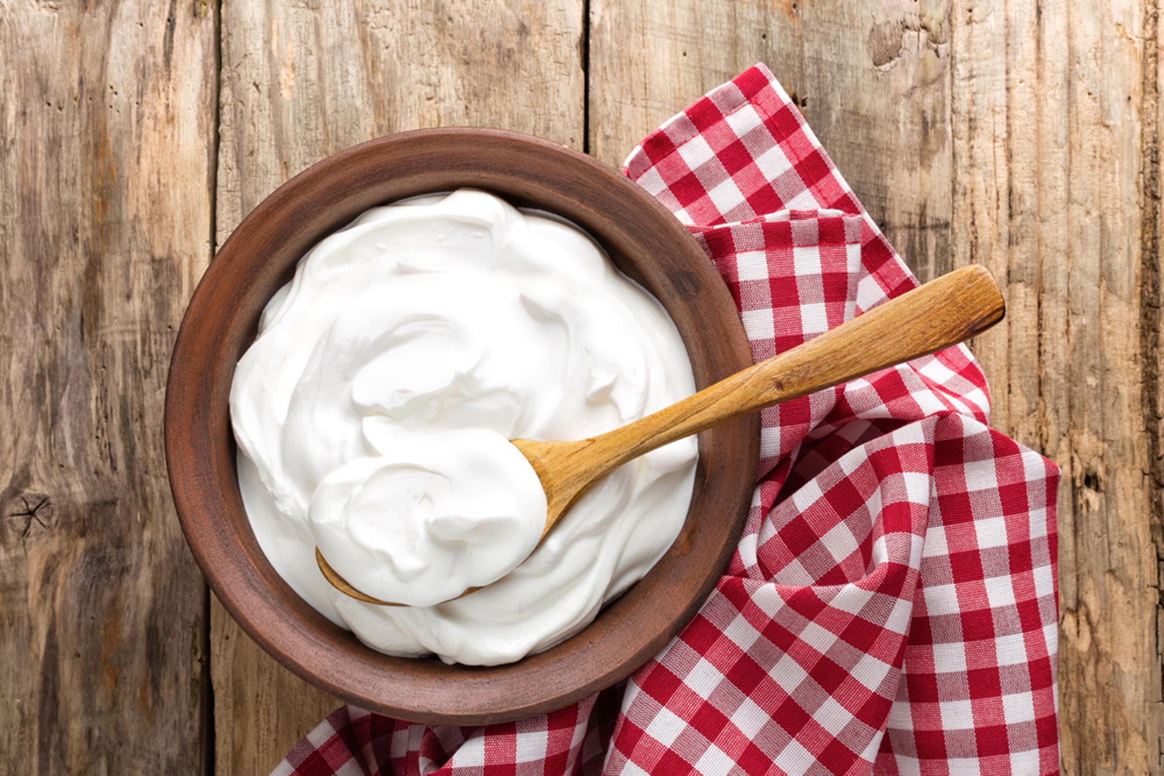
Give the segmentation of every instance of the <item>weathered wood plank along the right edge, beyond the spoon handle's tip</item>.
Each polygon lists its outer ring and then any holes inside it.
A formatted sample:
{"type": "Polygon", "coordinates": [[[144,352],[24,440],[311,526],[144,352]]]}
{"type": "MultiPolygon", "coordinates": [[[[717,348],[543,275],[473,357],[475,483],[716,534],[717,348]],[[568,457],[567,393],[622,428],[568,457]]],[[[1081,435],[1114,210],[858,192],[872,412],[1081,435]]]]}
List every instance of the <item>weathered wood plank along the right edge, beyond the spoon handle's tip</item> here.
{"type": "Polygon", "coordinates": [[[956,263],[1009,280],[1007,326],[977,347],[994,422],[1064,472],[1069,774],[1159,773],[1164,752],[1154,5],[956,0],[951,14],[956,263]]]}

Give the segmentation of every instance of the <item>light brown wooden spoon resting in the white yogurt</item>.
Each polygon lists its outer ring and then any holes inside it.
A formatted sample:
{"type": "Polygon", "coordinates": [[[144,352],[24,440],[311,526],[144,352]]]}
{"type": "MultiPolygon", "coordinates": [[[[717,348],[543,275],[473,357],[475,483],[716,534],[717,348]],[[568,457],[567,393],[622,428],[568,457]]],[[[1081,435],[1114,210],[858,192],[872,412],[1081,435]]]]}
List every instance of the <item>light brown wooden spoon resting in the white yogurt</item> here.
{"type": "MultiPolygon", "coordinates": [[[[986,268],[972,264],[930,280],[792,350],[710,385],[612,432],[576,442],[512,440],[546,490],[549,529],[596,480],[668,442],[748,412],[814,393],[968,340],[1002,320],[1006,302],[986,268]]],[[[319,548],[320,571],[341,592],[369,604],[319,548]]],[[[461,593],[467,596],[478,588],[461,593]]]]}

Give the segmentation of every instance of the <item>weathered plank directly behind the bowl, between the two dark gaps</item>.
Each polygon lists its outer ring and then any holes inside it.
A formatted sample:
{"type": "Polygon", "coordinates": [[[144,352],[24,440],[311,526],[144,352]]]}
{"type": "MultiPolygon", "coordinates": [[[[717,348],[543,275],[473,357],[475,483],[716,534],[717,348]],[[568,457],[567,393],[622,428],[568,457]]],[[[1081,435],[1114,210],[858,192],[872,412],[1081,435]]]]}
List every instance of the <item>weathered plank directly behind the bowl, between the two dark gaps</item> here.
{"type": "MultiPolygon", "coordinates": [[[[583,142],[582,0],[226,0],[218,240],[348,145],[442,124],[583,142]]],[[[218,773],[267,773],[338,705],[212,615],[218,773]]]]}

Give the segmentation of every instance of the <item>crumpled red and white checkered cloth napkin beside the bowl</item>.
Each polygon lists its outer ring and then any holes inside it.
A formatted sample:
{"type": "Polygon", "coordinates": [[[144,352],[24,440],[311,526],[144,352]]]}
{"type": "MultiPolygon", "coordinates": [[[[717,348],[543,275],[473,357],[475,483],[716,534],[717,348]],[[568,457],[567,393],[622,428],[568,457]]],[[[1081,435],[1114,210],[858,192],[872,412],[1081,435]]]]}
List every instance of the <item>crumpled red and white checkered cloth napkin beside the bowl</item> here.
{"type": "MultiPolygon", "coordinates": [[[[764,65],[624,171],[704,247],[755,361],[917,285],[764,65]]],[[[275,774],[1057,774],[1059,472],[988,413],[963,346],[768,407],[731,564],[627,682],[482,727],[347,706],[275,774]]]]}

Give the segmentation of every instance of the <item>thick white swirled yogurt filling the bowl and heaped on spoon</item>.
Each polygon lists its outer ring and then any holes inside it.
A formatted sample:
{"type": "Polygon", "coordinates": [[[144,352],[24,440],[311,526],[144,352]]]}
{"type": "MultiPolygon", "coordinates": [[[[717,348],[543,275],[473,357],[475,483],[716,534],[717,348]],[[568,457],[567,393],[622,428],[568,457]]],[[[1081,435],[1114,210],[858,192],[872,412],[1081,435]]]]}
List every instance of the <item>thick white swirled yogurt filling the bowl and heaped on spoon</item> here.
{"type": "Polygon", "coordinates": [[[662,556],[696,443],[617,469],[538,546],[545,493],[509,440],[594,436],[694,390],[662,306],[573,225],[474,190],[372,208],[304,256],[237,364],[243,504],[279,575],[370,647],[516,661],[662,556]],[[334,590],[317,546],[411,606],[334,590]]]}

